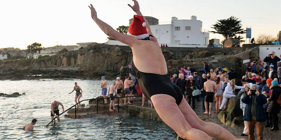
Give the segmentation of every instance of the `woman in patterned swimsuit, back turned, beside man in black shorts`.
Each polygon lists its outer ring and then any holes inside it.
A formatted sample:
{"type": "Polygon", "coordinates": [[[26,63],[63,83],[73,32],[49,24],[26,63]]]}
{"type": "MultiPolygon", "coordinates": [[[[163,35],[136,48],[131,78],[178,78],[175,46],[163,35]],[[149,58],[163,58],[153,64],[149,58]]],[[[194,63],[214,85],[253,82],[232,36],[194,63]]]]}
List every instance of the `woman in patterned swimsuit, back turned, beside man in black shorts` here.
{"type": "Polygon", "coordinates": [[[223,82],[220,81],[220,77],[217,77],[216,85],[215,85],[215,99],[216,99],[216,113],[218,113],[218,108],[222,104],[222,89],[223,89],[223,82]]]}

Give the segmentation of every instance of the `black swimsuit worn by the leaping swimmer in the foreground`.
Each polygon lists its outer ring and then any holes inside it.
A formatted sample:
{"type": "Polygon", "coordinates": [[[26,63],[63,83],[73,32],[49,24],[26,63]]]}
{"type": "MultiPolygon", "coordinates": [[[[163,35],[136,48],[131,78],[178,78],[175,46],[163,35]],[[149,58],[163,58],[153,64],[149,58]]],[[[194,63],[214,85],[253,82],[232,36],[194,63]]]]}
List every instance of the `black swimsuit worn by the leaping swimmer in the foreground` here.
{"type": "Polygon", "coordinates": [[[140,84],[140,89],[149,100],[151,96],[156,94],[167,94],[176,99],[176,104],[180,104],[183,99],[183,92],[178,86],[171,82],[170,77],[165,74],[154,74],[140,72],[132,59],[132,71],[136,74],[136,78],[140,84]]]}

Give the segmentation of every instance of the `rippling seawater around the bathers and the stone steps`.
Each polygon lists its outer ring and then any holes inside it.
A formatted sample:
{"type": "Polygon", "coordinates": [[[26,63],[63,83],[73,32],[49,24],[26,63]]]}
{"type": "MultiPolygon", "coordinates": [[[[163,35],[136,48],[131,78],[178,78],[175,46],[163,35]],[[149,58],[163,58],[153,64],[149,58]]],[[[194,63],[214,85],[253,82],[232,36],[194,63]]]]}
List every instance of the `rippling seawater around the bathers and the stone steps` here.
{"type": "MultiPolygon", "coordinates": [[[[101,95],[98,80],[0,81],[0,93],[26,94],[17,98],[0,97],[0,139],[175,139],[176,133],[165,123],[127,115],[97,115],[76,120],[61,115],[61,122],[45,127],[51,120],[52,101],[62,102],[65,110],[75,104],[75,92],[68,94],[75,81],[83,90],[80,100],[101,95]],[[37,119],[34,130],[22,130],[33,118],[37,119]]],[[[112,82],[108,81],[107,87],[112,82]]],[[[59,110],[63,110],[61,106],[59,110]]]]}

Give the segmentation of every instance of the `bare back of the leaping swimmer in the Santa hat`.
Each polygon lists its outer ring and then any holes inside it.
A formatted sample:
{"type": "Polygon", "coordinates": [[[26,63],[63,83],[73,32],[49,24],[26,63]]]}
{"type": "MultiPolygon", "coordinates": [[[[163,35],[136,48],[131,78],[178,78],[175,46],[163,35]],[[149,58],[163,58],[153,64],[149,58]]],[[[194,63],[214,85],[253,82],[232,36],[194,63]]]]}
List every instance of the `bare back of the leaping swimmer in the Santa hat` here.
{"type": "Polygon", "coordinates": [[[167,64],[159,44],[150,40],[138,41],[138,46],[131,47],[136,68],[146,73],[167,74],[167,64]]]}

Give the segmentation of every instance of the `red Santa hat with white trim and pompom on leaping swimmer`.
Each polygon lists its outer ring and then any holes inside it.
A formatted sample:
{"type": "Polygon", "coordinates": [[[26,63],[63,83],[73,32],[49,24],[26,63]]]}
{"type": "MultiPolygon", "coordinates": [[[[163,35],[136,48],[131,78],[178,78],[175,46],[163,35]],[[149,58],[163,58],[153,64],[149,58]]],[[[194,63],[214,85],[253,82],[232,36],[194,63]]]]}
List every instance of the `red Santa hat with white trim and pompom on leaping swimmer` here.
{"type": "Polygon", "coordinates": [[[148,37],[146,23],[143,16],[134,15],[133,22],[129,26],[127,35],[134,36],[137,39],[148,37]]]}

